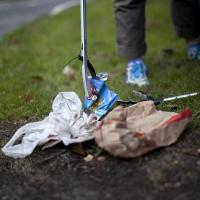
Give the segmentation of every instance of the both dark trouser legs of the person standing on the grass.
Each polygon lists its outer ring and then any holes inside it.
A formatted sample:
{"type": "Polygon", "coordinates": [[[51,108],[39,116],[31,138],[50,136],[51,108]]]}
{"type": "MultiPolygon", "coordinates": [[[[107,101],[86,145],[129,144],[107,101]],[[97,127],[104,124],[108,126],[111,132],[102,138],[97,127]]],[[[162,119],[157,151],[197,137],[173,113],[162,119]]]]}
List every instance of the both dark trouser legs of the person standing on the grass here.
{"type": "MultiPolygon", "coordinates": [[[[127,59],[146,52],[145,5],[146,0],[114,0],[117,53],[127,59]]],[[[177,36],[188,40],[199,37],[199,0],[172,0],[171,11],[177,36]]]]}

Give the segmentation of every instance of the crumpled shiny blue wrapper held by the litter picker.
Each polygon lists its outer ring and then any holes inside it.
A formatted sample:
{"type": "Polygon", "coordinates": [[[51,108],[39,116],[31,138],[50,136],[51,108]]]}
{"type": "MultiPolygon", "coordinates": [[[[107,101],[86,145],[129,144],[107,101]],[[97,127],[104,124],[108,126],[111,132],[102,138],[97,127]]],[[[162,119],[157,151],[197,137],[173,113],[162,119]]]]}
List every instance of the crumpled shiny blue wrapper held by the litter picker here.
{"type": "Polygon", "coordinates": [[[85,97],[84,110],[93,111],[98,118],[103,117],[118,100],[118,94],[112,92],[102,80],[89,79],[92,88],[96,89],[97,99],[85,97]]]}

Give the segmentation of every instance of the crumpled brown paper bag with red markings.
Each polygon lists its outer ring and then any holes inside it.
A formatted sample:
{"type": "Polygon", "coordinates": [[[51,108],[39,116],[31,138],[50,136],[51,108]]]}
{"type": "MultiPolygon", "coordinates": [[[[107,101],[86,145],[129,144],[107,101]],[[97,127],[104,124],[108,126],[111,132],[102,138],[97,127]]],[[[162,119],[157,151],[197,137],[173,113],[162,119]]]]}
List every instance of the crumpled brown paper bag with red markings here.
{"type": "Polygon", "coordinates": [[[157,111],[152,101],[118,106],[100,122],[95,140],[114,156],[138,157],[175,143],[191,119],[190,109],[181,113],[157,111]]]}

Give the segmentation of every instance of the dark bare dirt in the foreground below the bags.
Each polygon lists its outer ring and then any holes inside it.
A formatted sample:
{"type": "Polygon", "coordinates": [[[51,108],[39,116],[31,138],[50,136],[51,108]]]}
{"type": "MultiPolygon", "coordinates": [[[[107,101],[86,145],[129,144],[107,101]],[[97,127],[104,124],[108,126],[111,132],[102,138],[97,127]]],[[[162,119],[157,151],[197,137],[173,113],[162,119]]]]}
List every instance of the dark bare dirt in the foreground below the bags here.
{"type": "MultiPolygon", "coordinates": [[[[7,141],[21,125],[0,124],[0,140],[7,141]]],[[[92,145],[84,147],[90,152],[92,145]]],[[[0,199],[200,199],[200,129],[188,129],[175,145],[137,159],[103,153],[85,162],[73,148],[38,148],[18,160],[0,153],[0,199]]]]}

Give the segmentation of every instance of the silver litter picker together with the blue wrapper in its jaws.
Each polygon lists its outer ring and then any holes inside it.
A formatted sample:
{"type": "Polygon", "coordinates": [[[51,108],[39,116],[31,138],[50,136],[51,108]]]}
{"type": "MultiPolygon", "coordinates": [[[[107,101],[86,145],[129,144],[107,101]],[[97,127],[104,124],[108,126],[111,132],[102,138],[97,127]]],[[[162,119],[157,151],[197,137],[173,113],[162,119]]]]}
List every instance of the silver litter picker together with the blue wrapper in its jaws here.
{"type": "Polygon", "coordinates": [[[118,100],[118,95],[112,92],[104,80],[96,75],[96,71],[87,54],[87,19],[86,0],[80,0],[81,9],[81,53],[82,79],[85,91],[84,110],[94,112],[98,118],[103,117],[118,100]],[[91,76],[88,77],[88,72],[91,76]]]}

